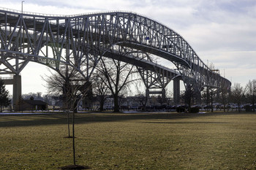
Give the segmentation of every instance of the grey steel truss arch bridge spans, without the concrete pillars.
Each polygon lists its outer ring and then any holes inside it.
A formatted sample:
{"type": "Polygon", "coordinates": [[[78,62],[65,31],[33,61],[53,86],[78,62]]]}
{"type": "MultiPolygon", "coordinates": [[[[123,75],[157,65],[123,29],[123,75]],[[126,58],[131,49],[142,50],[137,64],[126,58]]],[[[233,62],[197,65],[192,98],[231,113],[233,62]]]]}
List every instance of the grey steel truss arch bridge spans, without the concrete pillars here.
{"type": "Polygon", "coordinates": [[[43,15],[0,9],[0,74],[18,75],[37,62],[57,72],[71,66],[89,79],[102,56],[136,65],[146,88],[163,88],[177,76],[198,93],[220,82],[231,85],[175,31],[133,12],[43,15]],[[154,63],[151,55],[171,61],[178,72],[154,63]]]}

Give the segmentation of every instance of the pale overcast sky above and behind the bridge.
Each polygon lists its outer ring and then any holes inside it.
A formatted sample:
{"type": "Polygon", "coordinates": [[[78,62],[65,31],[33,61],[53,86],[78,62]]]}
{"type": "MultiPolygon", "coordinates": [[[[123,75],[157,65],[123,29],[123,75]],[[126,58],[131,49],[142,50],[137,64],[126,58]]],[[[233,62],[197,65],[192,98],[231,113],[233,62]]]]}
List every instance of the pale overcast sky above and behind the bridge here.
{"type": "MultiPolygon", "coordinates": [[[[0,7],[21,10],[21,1],[1,0],[0,7]]],[[[204,63],[245,86],[256,79],[255,0],[26,0],[23,11],[72,15],[124,10],[165,24],[187,40],[204,63]]],[[[29,64],[23,72],[23,93],[43,87],[45,66],[29,64]],[[33,72],[31,72],[33,70],[33,72]],[[33,74],[31,74],[33,73],[33,74]],[[33,82],[29,79],[31,75],[33,82]]]]}

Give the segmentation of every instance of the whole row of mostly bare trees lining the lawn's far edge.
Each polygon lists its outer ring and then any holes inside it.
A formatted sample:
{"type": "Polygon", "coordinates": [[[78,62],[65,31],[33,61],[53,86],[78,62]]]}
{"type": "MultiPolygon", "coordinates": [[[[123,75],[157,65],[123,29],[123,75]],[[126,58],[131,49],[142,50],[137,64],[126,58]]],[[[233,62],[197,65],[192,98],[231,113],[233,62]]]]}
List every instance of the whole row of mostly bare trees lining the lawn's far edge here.
{"type": "MultiPolygon", "coordinates": [[[[42,77],[47,82],[46,88],[48,94],[42,96],[42,93],[28,93],[23,94],[21,98],[30,98],[45,101],[48,104],[56,103],[56,101],[62,101],[62,108],[68,110],[74,110],[77,112],[78,104],[87,98],[87,104],[90,101],[99,101],[99,110],[103,110],[106,98],[111,96],[114,100],[114,112],[119,111],[119,106],[122,102],[122,96],[129,96],[130,84],[135,85],[138,91],[138,103],[146,107],[148,102],[145,93],[140,92],[140,86],[138,85],[138,71],[135,66],[121,61],[116,61],[110,58],[99,58],[98,64],[92,72],[90,80],[84,79],[81,74],[76,70],[67,66],[59,72],[50,72],[50,75],[42,77]]],[[[10,104],[10,99],[4,96],[8,96],[7,92],[3,89],[3,82],[0,85],[0,104],[1,108],[10,104]],[[3,98],[3,99],[1,99],[3,98]]],[[[133,89],[134,90],[134,89],[133,89]]],[[[242,87],[240,83],[234,83],[231,88],[225,85],[225,82],[219,83],[219,88],[206,87],[201,92],[201,103],[211,106],[213,111],[214,103],[223,104],[224,111],[227,108],[227,104],[237,104],[238,110],[241,111],[241,104],[251,104],[252,110],[255,111],[255,98],[256,98],[256,80],[249,80],[245,87],[242,87]]],[[[159,103],[165,102],[165,98],[160,98],[159,103]]],[[[187,90],[181,95],[182,102],[187,104],[188,107],[192,107],[195,104],[195,94],[192,89],[192,85],[187,85],[187,90]]]]}

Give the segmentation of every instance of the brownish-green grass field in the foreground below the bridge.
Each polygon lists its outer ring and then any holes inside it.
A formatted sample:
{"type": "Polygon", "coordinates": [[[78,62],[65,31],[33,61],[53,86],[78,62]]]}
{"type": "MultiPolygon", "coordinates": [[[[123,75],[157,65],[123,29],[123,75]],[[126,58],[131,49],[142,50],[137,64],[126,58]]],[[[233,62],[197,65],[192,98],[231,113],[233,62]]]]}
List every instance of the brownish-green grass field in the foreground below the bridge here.
{"type": "MultiPolygon", "coordinates": [[[[67,115],[0,115],[0,169],[72,164],[67,115]]],[[[76,115],[77,164],[91,169],[256,169],[254,113],[76,115]]]]}

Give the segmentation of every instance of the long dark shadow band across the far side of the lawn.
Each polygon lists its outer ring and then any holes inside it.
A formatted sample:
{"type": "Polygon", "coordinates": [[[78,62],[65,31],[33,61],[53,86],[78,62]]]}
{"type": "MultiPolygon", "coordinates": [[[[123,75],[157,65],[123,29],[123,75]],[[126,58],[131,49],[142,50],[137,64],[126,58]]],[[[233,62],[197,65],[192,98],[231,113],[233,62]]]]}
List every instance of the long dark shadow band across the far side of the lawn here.
{"type": "MultiPolygon", "coordinates": [[[[176,113],[176,112],[137,112],[137,113],[78,113],[75,115],[75,123],[99,123],[127,120],[176,120],[193,117],[207,117],[213,115],[253,115],[255,112],[213,112],[206,114],[176,113]]],[[[146,123],[146,122],[143,122],[146,123]]],[[[152,123],[157,123],[152,121],[152,123]]],[[[163,123],[163,122],[159,122],[163,123]]],[[[174,122],[175,123],[175,122],[174,122]]],[[[177,122],[181,123],[181,122],[177,122]]],[[[184,122],[192,123],[192,122],[184,122]]],[[[198,122],[195,122],[198,123],[198,122]]],[[[199,122],[200,123],[200,122],[199,122]]],[[[205,122],[217,123],[217,122],[205,122]]],[[[33,126],[33,125],[59,125],[67,124],[66,114],[46,115],[0,115],[0,127],[33,126]]]]}

